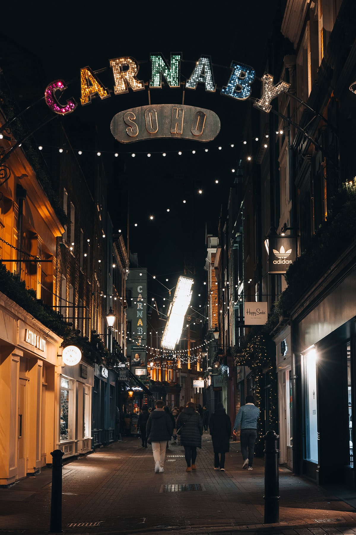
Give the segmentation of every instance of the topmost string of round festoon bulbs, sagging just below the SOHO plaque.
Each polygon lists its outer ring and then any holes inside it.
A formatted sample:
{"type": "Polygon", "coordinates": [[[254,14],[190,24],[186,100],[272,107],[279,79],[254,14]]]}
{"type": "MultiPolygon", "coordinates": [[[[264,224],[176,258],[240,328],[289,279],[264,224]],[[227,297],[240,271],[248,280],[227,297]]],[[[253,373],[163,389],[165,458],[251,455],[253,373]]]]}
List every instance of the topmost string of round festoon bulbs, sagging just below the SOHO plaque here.
{"type": "MultiPolygon", "coordinates": [[[[276,134],[283,134],[283,131],[276,131],[276,134]]],[[[1,135],[1,134],[0,134],[1,135]]],[[[255,136],[252,138],[252,141],[257,143],[260,142],[261,146],[265,149],[268,148],[268,141],[269,141],[269,134],[263,134],[262,137],[255,136]]],[[[1,138],[0,138],[1,139],[1,138]]],[[[27,143],[27,142],[26,142],[27,143]]],[[[30,143],[33,145],[33,143],[30,143]]],[[[119,156],[127,156],[131,158],[135,158],[136,156],[146,156],[147,158],[151,158],[152,156],[162,156],[167,157],[171,155],[177,155],[177,156],[184,156],[184,155],[195,155],[195,154],[207,154],[208,152],[212,151],[223,151],[225,149],[231,150],[233,148],[239,147],[239,146],[246,146],[247,141],[246,140],[240,140],[240,141],[234,141],[231,143],[222,143],[220,145],[214,145],[209,146],[207,148],[202,149],[175,149],[175,150],[153,150],[153,151],[113,151],[113,150],[93,150],[93,149],[86,149],[86,148],[72,148],[64,144],[63,146],[58,145],[49,145],[46,143],[41,143],[37,145],[38,150],[43,150],[44,148],[49,149],[56,149],[60,154],[65,154],[66,152],[74,151],[78,156],[85,156],[85,154],[91,154],[96,155],[98,157],[104,156],[104,155],[111,155],[114,158],[118,158],[119,156]]],[[[253,149],[252,149],[253,150],[253,149]]],[[[224,153],[225,157],[225,153],[224,153]]],[[[250,161],[252,159],[251,155],[247,155],[246,158],[250,161]]]]}

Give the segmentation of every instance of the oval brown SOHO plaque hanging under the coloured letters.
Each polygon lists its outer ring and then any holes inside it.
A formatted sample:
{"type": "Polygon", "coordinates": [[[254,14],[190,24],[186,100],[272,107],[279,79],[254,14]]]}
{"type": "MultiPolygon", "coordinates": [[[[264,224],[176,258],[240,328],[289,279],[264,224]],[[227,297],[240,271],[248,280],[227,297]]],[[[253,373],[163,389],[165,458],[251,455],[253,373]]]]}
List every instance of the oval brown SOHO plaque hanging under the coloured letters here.
{"type": "Polygon", "coordinates": [[[220,119],[210,110],[183,104],[155,104],[117,113],[110,124],[121,143],[157,137],[211,141],[220,132],[220,119]]]}

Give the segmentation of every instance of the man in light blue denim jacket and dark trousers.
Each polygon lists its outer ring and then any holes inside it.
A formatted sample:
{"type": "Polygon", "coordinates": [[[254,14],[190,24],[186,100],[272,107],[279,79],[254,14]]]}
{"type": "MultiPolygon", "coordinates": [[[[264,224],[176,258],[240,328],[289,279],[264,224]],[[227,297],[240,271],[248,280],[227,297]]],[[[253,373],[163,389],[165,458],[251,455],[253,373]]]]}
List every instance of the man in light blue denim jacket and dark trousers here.
{"type": "Polygon", "coordinates": [[[242,468],[252,470],[255,442],[257,438],[257,418],[259,417],[259,408],[255,406],[254,396],[246,396],[245,402],[246,404],[240,407],[236,416],[234,431],[236,432],[239,427],[241,428],[240,443],[243,458],[242,468]]]}

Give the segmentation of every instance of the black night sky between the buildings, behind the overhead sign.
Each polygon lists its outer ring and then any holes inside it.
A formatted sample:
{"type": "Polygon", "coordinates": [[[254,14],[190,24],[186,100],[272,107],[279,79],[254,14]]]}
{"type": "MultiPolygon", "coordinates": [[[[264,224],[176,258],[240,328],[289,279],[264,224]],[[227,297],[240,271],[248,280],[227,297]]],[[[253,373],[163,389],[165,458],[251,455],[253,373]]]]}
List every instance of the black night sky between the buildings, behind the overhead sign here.
{"type": "MultiPolygon", "coordinates": [[[[172,9],[166,3],[164,10],[159,3],[131,5],[130,10],[123,8],[122,3],[102,3],[92,10],[85,7],[84,12],[75,3],[65,3],[48,11],[48,4],[39,2],[35,13],[33,5],[13,4],[2,8],[2,31],[42,59],[48,83],[75,79],[81,67],[89,65],[97,70],[108,67],[110,58],[125,55],[140,62],[138,78],[148,81],[149,53],[163,53],[169,59],[170,52],[183,54],[181,80],[190,76],[194,62],[202,54],[210,55],[216,65],[218,88],[226,85],[233,59],[253,66],[256,76],[262,76],[265,43],[278,0],[219,3],[219,9],[209,9],[203,2],[175,4],[172,9]]],[[[99,78],[112,89],[109,70],[99,78]]],[[[129,190],[130,249],[138,253],[139,263],[147,266],[149,273],[162,276],[161,280],[170,287],[182,274],[184,251],[194,257],[196,282],[204,279],[205,225],[209,231],[217,232],[220,205],[227,202],[234,180],[231,169],[236,168],[243,147],[241,128],[249,104],[220,96],[218,88],[215,94],[205,93],[203,87],[185,91],[185,104],[213,110],[220,118],[221,131],[209,143],[168,139],[128,146],[116,142],[110,133],[110,121],[119,111],[147,105],[147,89],[135,94],[130,90],[129,94],[104,101],[96,98],[75,111],[84,123],[98,126],[109,180],[109,213],[115,229],[127,232],[129,190]],[[234,143],[233,149],[230,143],[234,143]],[[222,150],[217,149],[219,145],[222,150]],[[193,149],[195,155],[191,153],[193,149]],[[178,156],[179,150],[183,155],[178,156]],[[115,151],[120,153],[119,158],[113,157],[115,151]],[[152,152],[151,158],[146,156],[148,151],[152,152]],[[167,152],[165,158],[163,151],[167,152]],[[131,152],[137,156],[132,158],[131,152]],[[200,187],[202,195],[197,193],[200,187]],[[165,282],[166,273],[174,273],[168,276],[169,283],[165,282]]],[[[75,95],[78,89],[78,81],[73,82],[71,93],[75,95]]],[[[254,91],[260,91],[258,81],[254,91]]],[[[153,104],[181,103],[181,98],[181,89],[151,90],[153,104]]],[[[161,294],[164,288],[156,286],[153,291],[161,294]]]]}

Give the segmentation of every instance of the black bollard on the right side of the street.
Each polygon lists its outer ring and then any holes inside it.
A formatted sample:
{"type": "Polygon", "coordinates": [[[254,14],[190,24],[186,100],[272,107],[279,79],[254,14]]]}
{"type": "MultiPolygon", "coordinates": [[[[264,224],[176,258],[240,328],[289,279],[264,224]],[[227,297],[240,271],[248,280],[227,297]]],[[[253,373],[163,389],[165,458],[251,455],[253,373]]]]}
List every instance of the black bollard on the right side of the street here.
{"type": "Polygon", "coordinates": [[[267,431],[265,439],[265,524],[279,522],[278,448],[279,436],[267,431]]]}

